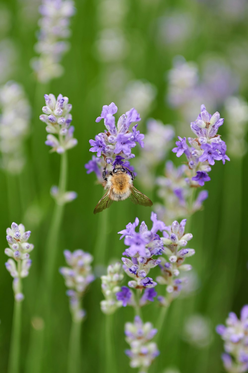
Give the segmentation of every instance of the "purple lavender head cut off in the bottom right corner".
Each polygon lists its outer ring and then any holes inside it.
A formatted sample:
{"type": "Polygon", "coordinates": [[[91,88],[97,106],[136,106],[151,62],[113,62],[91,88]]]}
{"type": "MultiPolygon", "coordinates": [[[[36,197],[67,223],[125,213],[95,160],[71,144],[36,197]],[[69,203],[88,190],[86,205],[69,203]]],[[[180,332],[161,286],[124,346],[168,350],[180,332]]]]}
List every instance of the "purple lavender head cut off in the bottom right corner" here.
{"type": "Polygon", "coordinates": [[[227,372],[242,373],[248,370],[248,305],[241,309],[240,319],[230,312],[225,325],[218,325],[216,332],[224,341],[222,360],[227,372]]]}

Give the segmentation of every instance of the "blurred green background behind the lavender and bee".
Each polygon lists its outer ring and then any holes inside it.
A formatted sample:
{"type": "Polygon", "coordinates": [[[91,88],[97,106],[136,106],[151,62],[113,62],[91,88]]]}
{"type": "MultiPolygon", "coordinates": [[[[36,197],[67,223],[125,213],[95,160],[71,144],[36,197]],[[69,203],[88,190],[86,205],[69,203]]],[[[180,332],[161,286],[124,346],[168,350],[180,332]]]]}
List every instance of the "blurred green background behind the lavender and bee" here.
{"type": "MultiPolygon", "coordinates": [[[[29,241],[35,245],[29,277],[23,280],[22,372],[28,372],[30,363],[26,360],[32,329],[30,320],[34,316],[41,316],[35,310],[35,303],[39,297],[37,288],[41,269],[49,260],[44,257],[44,245],[54,208],[49,189],[51,185],[58,184],[60,160],[58,154],[49,154],[44,144],[45,126],[39,120],[44,94],[54,93],[57,96],[62,93],[69,97],[73,105],[71,113],[75,138],[78,139],[77,147],[68,152],[68,190],[75,190],[78,198],[65,207],[58,237],[60,251],[57,267],[64,264],[62,252],[65,248],[82,248],[93,254],[96,274],[104,273],[107,264],[113,260],[120,260],[124,244],[119,241],[117,232],[124,229],[128,222],[133,222],[136,216],[149,226],[151,214],[151,209],[133,206],[129,200],[114,203],[109,211],[102,213],[104,219],[108,220],[107,239],[101,239],[103,217],[93,215],[93,209],[102,197],[103,190],[95,185],[95,175],[86,174],[84,164],[91,158],[88,140],[103,131],[103,123],[95,123],[102,106],[114,101],[119,107],[119,115],[135,106],[142,117],[139,122],[141,132],[146,131],[146,119],[153,117],[174,125],[176,136],[190,135],[189,124],[200,111],[199,103],[195,107],[194,102],[186,103],[184,107],[173,107],[166,99],[168,70],[172,68],[177,55],[197,64],[200,79],[205,74],[202,82],[209,85],[207,97],[209,100],[214,97],[214,100],[210,100],[211,107],[207,107],[209,112],[218,110],[225,117],[226,97],[233,94],[247,97],[248,94],[248,13],[245,1],[75,1],[77,12],[71,21],[71,48],[62,61],[65,73],[47,85],[37,84],[30,68],[30,59],[35,55],[33,45],[38,31],[39,4],[37,0],[10,0],[2,1],[0,6],[0,10],[7,11],[9,15],[8,26],[2,30],[2,39],[11,40],[17,54],[15,69],[9,78],[23,85],[32,106],[30,137],[26,142],[26,166],[20,176],[0,171],[0,372],[7,369],[12,327],[12,278],[4,267],[7,259],[4,254],[5,230],[12,221],[22,222],[26,229],[32,231],[29,241]],[[215,84],[218,80],[215,70],[207,75],[209,56],[221,59],[228,69],[219,86],[215,84]],[[234,77],[235,83],[230,76],[234,77]],[[133,81],[138,81],[141,86],[135,94],[128,88],[133,81]],[[224,83],[227,81],[231,83],[226,87],[224,83]],[[144,93],[143,97],[145,87],[148,93],[144,93]],[[219,90],[224,90],[224,93],[217,100],[215,97],[219,90]],[[193,107],[192,114],[187,111],[189,104],[193,107]]],[[[225,68],[220,64],[219,70],[216,70],[221,74],[225,68]]],[[[1,82],[4,83],[4,71],[1,71],[1,75],[1,82]]],[[[201,92],[204,91],[203,83],[201,92]]],[[[201,92],[197,93],[199,101],[201,92]]],[[[206,97],[206,91],[203,97],[206,97]]],[[[235,128],[236,123],[232,122],[231,125],[235,128]]],[[[220,131],[223,140],[228,138],[228,131],[224,122],[220,131]]],[[[137,147],[136,156],[139,151],[137,147]]],[[[224,166],[217,163],[213,167],[211,182],[206,185],[209,198],[204,202],[204,210],[193,216],[190,247],[196,250],[196,254],[187,263],[192,264],[198,285],[188,297],[175,300],[168,311],[162,343],[158,346],[161,355],[157,358],[157,372],[162,373],[168,367],[175,367],[181,373],[223,372],[220,360],[223,346],[215,334],[215,326],[224,322],[229,311],[239,313],[242,305],[247,303],[248,156],[229,156],[231,162],[224,166]],[[207,318],[210,337],[204,347],[182,337],[187,317],[191,314],[207,318]]],[[[170,152],[169,158],[177,164],[181,162],[170,152]]],[[[164,162],[158,167],[158,175],[163,173],[163,168],[164,162]]],[[[136,187],[148,195],[152,194],[153,202],[158,201],[156,189],[145,190],[139,184],[139,170],[136,172],[136,187]]],[[[51,358],[50,372],[65,372],[71,315],[64,281],[59,272],[55,273],[54,282],[50,332],[52,354],[45,352],[42,359],[47,356],[51,358]]],[[[105,372],[105,315],[99,306],[102,299],[100,279],[97,278],[84,298],[87,319],[82,327],[82,372],[105,372]]],[[[157,305],[150,304],[143,310],[144,320],[155,323],[158,313],[157,305]]],[[[133,310],[130,307],[121,308],[115,314],[115,354],[119,373],[132,370],[129,359],[124,355],[128,345],[123,334],[124,323],[132,320],[133,310]]],[[[39,364],[33,363],[34,366],[39,364]]]]}

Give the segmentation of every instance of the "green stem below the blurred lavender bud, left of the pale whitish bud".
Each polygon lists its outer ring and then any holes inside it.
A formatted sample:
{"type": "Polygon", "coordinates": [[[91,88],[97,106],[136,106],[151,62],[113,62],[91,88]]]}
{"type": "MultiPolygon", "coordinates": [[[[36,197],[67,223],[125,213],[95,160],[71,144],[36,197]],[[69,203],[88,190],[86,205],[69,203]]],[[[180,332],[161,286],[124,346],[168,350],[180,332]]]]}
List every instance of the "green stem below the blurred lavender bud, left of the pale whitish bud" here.
{"type": "Polygon", "coordinates": [[[72,321],[71,323],[67,373],[81,372],[81,363],[80,363],[81,326],[82,326],[81,322],[72,321]]]}

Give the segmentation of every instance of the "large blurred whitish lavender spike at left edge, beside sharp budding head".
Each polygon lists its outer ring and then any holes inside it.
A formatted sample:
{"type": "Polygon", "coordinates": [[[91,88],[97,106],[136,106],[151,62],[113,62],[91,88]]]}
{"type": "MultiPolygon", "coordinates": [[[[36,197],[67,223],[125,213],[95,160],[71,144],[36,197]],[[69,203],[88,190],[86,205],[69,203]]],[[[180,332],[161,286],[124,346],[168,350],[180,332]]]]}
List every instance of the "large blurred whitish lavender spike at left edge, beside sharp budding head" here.
{"type": "Polygon", "coordinates": [[[7,82],[0,87],[0,150],[2,167],[18,174],[25,164],[24,140],[29,133],[30,106],[21,85],[7,82]]]}

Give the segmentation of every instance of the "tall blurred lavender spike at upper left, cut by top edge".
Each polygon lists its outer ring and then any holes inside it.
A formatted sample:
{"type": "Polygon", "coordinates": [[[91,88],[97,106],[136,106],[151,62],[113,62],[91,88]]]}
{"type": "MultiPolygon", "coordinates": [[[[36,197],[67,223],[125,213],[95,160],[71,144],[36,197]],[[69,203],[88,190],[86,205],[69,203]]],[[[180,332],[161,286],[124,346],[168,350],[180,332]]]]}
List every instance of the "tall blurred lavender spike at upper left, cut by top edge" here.
{"type": "Polygon", "coordinates": [[[40,54],[31,60],[31,65],[39,82],[46,83],[63,74],[60,65],[62,55],[70,44],[64,39],[70,36],[70,17],[75,13],[71,0],[42,0],[39,8],[42,18],[39,20],[40,32],[35,51],[40,54]]]}

